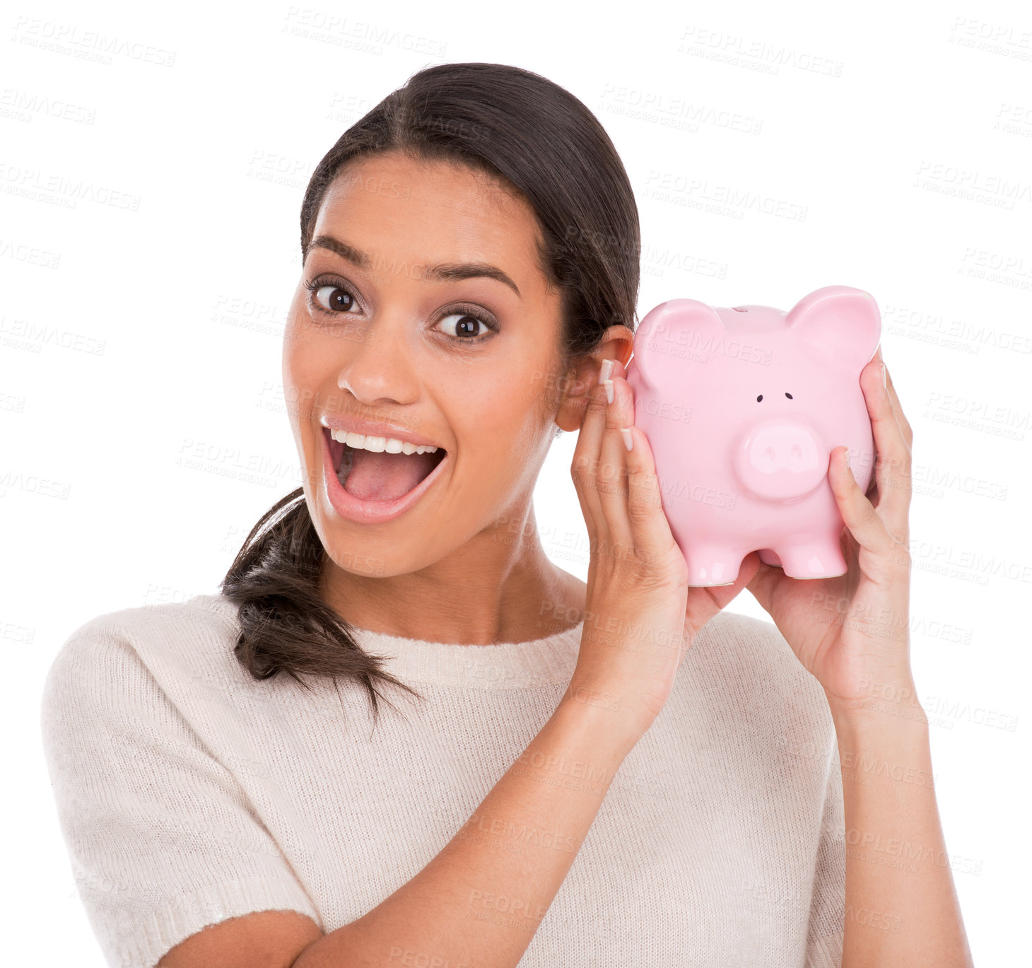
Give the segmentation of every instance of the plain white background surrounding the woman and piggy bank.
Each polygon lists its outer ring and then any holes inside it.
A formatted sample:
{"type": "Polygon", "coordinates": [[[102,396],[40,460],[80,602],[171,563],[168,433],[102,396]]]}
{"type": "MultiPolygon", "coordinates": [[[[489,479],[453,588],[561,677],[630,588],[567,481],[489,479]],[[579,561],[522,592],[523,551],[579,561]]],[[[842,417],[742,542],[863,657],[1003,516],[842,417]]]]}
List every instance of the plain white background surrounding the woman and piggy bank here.
{"type": "MultiPolygon", "coordinates": [[[[975,963],[1027,950],[1027,4],[22,2],[0,27],[10,964],[102,965],[41,756],[45,672],[98,614],[214,592],[300,483],[280,354],[304,187],[442,61],[536,70],[598,114],[640,205],[640,316],[874,295],[914,427],[912,656],[946,846],[975,963]]],[[[574,443],[536,507],[584,578],[574,443]]],[[[767,617],[748,592],[732,610],[767,617]]]]}

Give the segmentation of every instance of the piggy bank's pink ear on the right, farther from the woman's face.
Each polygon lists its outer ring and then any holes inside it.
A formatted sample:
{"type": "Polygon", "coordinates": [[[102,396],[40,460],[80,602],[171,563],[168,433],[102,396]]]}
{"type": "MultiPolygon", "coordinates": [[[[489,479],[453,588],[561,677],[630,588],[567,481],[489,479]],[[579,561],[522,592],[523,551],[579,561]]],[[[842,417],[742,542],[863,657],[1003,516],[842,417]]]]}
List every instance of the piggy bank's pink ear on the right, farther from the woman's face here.
{"type": "Polygon", "coordinates": [[[804,345],[857,373],[874,356],[881,338],[881,313],[874,297],[851,286],[825,286],[803,296],[784,317],[804,345]]]}

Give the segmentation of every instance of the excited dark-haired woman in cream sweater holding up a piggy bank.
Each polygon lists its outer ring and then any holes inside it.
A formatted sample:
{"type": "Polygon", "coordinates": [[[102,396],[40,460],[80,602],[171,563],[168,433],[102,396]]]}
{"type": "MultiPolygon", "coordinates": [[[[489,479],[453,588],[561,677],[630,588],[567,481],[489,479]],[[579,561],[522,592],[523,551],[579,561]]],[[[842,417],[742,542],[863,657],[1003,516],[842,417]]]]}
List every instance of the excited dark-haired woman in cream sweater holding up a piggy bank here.
{"type": "Polygon", "coordinates": [[[221,594],[100,616],[47,678],[109,962],[970,964],[934,793],[894,779],[931,769],[880,357],[871,499],[830,462],[848,574],[753,552],[688,587],[624,380],[637,208],[579,100],[504,65],[420,71],[317,167],[301,251],[303,488],[221,594]],[[559,430],[586,584],[535,523],[559,430]],[[743,587],[774,624],[721,611],[743,587]],[[411,705],[381,716],[388,689],[411,705]],[[879,863],[900,840],[916,860],[879,863]]]}

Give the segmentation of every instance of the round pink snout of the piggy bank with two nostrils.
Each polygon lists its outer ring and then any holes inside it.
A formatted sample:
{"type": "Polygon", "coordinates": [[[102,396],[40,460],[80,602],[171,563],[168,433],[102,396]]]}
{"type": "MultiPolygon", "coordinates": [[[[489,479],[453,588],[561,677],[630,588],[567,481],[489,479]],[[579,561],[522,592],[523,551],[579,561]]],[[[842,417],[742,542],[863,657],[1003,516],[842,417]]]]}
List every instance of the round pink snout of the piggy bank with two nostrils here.
{"type": "Polygon", "coordinates": [[[735,473],[756,497],[805,497],[828,475],[831,451],[816,428],[798,418],[772,418],[751,425],[735,449],[735,473]]]}

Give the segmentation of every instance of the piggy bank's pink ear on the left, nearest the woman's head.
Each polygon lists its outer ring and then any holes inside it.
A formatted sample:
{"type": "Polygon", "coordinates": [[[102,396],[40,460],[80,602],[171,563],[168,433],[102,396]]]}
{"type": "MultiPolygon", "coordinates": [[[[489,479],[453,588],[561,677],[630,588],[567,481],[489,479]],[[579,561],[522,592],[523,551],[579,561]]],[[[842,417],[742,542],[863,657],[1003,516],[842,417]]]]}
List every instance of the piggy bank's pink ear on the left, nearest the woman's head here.
{"type": "Polygon", "coordinates": [[[720,317],[698,299],[660,302],[635,330],[634,363],[653,389],[677,386],[686,367],[725,335],[720,317]]]}

